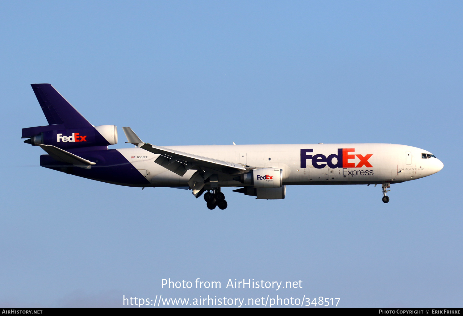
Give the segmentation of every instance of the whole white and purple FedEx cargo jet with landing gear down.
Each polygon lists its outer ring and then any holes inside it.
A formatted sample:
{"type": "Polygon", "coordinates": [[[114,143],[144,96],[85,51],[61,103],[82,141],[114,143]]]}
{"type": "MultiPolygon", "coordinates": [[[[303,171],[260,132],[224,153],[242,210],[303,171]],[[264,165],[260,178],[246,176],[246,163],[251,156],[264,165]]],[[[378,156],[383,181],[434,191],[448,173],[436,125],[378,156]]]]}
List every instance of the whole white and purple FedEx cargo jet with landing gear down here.
{"type": "Polygon", "coordinates": [[[91,125],[50,84],[31,85],[50,125],[23,128],[25,143],[48,155],[40,165],[131,187],[190,189],[209,209],[227,207],[221,188],[257,199],[284,199],[287,185],[390,185],[430,176],[444,164],[431,152],[395,144],[155,146],[123,127],[135,148],[117,144],[113,125],[91,125]]]}

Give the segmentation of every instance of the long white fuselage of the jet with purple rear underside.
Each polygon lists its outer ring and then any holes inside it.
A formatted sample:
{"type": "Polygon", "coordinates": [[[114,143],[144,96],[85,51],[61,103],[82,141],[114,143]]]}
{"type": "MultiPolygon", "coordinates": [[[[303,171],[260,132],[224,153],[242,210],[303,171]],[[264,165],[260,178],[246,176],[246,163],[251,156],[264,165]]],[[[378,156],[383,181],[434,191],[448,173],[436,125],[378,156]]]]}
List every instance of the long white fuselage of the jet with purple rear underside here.
{"type": "MultiPolygon", "coordinates": [[[[399,183],[430,176],[443,167],[438,158],[422,158],[423,154],[431,154],[426,150],[395,144],[164,147],[244,164],[252,168],[282,169],[283,185],[399,183]],[[313,150],[313,152],[305,150],[313,150]],[[343,159],[343,161],[338,161],[338,157],[333,157],[339,156],[340,150],[344,150],[343,157],[339,159],[343,159]],[[333,156],[328,162],[330,155],[333,156]]],[[[90,161],[95,161],[96,164],[91,170],[74,168],[77,169],[75,170],[77,173],[70,173],[126,186],[188,187],[188,180],[196,171],[188,170],[183,176],[179,176],[154,162],[159,157],[158,154],[137,147],[79,152],[79,155],[90,161]],[[132,171],[131,175],[127,175],[128,170],[132,171]],[[121,175],[118,179],[114,178],[117,174],[121,175]]],[[[42,165],[53,168],[56,161],[50,162],[51,164],[44,163],[42,165]]],[[[63,166],[56,167],[63,168],[63,166]]],[[[240,182],[232,178],[233,176],[219,174],[218,185],[220,187],[242,186],[240,182]]]]}

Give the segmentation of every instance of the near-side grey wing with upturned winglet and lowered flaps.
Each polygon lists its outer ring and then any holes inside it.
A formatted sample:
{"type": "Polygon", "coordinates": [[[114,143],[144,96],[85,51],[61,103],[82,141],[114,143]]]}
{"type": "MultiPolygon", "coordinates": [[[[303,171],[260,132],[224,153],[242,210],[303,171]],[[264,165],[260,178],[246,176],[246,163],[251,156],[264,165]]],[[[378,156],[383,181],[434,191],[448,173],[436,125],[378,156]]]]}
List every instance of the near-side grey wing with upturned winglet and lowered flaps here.
{"type": "Polygon", "coordinates": [[[239,175],[247,170],[241,164],[202,157],[188,152],[179,152],[173,149],[144,143],[130,127],[123,127],[122,129],[124,130],[125,136],[127,136],[127,143],[131,143],[149,152],[159,154],[160,156],[156,158],[155,163],[175,172],[179,176],[183,176],[190,169],[204,171],[213,170],[229,175],[239,175]]]}

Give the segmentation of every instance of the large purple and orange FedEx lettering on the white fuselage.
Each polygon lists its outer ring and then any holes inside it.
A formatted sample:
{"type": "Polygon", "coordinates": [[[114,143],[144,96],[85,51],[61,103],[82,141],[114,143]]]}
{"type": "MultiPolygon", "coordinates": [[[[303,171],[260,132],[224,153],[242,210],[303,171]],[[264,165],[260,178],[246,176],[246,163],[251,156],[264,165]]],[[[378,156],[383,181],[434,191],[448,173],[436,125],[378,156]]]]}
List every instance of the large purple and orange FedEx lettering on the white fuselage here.
{"type": "Polygon", "coordinates": [[[355,148],[338,148],[338,154],[331,154],[328,157],[322,154],[317,155],[307,155],[308,152],[313,152],[313,149],[301,149],[300,150],[300,167],[307,168],[307,160],[312,160],[312,165],[317,169],[328,167],[334,168],[362,168],[363,166],[373,168],[373,166],[368,162],[368,159],[373,156],[373,154],[360,155],[354,154],[355,148]],[[352,154],[350,154],[352,153],[352,154]],[[350,159],[355,157],[360,159],[360,162],[356,165],[354,162],[350,162],[350,159]],[[333,158],[336,158],[336,162],[333,163],[333,158]]]}

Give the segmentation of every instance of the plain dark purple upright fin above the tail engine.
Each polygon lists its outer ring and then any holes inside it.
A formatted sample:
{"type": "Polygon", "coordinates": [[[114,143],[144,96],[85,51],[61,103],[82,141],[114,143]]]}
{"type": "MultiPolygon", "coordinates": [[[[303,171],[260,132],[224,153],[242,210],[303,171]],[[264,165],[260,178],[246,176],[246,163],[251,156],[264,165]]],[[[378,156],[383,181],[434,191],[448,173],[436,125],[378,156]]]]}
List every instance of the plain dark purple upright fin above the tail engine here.
{"type": "Polygon", "coordinates": [[[31,84],[49,125],[65,128],[92,127],[74,107],[50,84],[31,84]]]}

